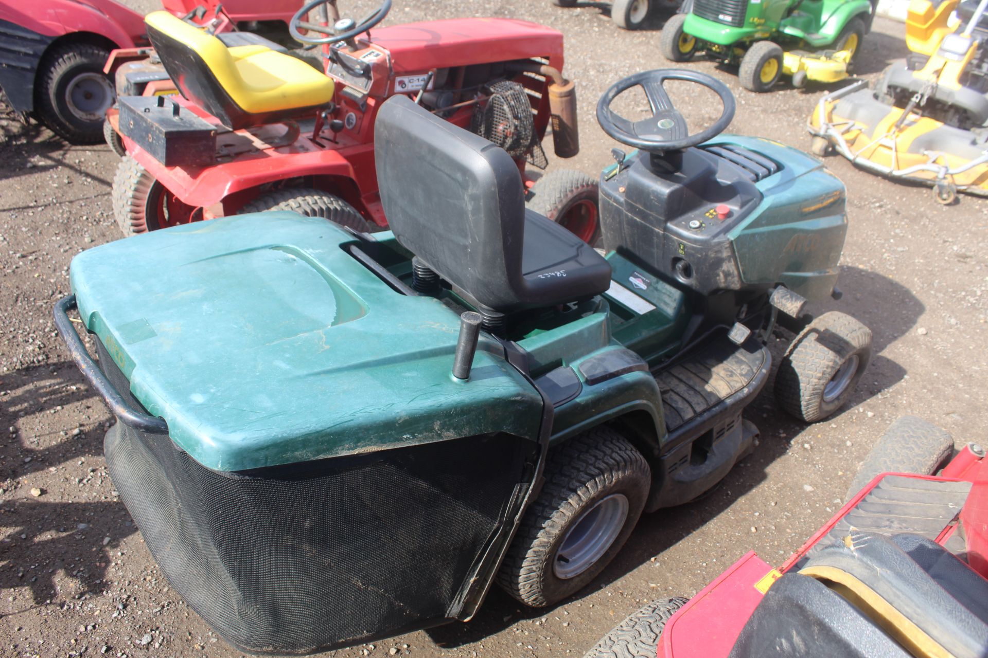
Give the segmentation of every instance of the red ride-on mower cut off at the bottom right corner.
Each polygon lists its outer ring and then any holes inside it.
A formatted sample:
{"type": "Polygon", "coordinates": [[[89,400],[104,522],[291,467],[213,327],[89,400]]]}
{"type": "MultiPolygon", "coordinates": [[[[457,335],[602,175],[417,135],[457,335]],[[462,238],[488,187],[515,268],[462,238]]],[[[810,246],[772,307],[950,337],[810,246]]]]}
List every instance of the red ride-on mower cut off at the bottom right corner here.
{"type": "Polygon", "coordinates": [[[749,552],[584,658],[988,656],[988,460],[968,443],[927,475],[952,451],[944,430],[900,418],[844,508],[782,566],[749,552]]]}

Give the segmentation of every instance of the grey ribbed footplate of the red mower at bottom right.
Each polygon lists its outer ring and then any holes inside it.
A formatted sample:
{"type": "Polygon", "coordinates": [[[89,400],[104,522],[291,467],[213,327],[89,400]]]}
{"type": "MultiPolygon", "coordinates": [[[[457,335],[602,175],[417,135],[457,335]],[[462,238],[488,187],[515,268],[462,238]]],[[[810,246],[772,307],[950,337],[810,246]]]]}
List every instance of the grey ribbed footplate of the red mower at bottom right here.
{"type": "MultiPolygon", "coordinates": [[[[971,491],[970,482],[924,479],[908,475],[886,475],[858,501],[804,559],[818,547],[841,541],[852,531],[891,537],[900,533],[920,535],[936,541],[964,506],[971,491]]],[[[945,548],[954,553],[966,548],[954,535],[945,548]]]]}

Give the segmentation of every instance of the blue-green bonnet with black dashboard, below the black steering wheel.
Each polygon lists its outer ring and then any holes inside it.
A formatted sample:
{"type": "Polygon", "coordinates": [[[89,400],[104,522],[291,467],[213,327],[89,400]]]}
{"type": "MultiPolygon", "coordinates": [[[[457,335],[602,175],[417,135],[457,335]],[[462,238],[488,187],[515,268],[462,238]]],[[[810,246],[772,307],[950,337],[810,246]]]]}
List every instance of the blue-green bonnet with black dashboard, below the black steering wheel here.
{"type": "Polygon", "coordinates": [[[779,284],[809,300],[832,294],[846,192],[818,160],[725,134],[684,152],[676,174],[656,174],[646,153],[624,162],[601,184],[605,240],[618,256],[697,297],[779,284]]]}

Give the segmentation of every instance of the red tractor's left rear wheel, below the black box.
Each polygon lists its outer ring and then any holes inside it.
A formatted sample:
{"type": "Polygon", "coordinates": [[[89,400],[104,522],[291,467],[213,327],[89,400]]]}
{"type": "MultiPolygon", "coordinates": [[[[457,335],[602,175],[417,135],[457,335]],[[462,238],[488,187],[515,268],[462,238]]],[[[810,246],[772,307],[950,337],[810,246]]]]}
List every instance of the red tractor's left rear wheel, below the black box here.
{"type": "Polygon", "coordinates": [[[188,224],[193,221],[196,210],[158,183],[128,155],[124,155],[117,166],[113,204],[114,216],[124,236],[188,224]]]}

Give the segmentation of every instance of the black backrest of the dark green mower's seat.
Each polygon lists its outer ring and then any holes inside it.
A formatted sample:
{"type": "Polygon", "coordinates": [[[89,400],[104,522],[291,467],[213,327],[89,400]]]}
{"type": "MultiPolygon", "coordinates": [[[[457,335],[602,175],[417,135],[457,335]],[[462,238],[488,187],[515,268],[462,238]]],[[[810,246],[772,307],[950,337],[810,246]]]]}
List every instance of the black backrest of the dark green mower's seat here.
{"type": "Polygon", "coordinates": [[[374,119],[377,183],[398,242],[478,304],[516,303],[525,197],[503,149],[393,96],[374,119]]]}

